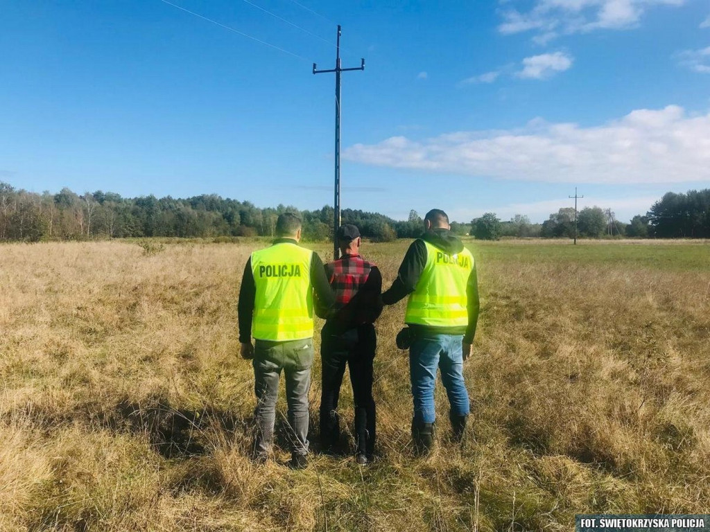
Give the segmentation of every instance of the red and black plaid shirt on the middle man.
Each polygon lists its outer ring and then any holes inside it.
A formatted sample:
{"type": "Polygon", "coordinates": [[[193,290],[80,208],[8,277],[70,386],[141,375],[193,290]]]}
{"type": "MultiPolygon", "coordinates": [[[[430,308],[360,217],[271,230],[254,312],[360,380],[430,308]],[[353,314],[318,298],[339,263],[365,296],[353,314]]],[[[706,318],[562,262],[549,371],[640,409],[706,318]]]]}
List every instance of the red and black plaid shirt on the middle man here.
{"type": "Polygon", "coordinates": [[[382,275],[360,255],[343,255],[325,265],[325,275],[335,292],[335,313],[329,323],[344,329],[373,323],[382,311],[382,275]]]}

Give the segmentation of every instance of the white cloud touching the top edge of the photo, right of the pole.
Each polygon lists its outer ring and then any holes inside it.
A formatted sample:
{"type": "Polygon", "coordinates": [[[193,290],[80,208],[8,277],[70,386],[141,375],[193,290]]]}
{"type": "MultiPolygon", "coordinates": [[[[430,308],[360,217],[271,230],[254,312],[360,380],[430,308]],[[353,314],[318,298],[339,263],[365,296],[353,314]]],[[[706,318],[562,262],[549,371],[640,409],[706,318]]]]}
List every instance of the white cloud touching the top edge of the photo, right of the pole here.
{"type": "Polygon", "coordinates": [[[646,9],[682,4],[684,0],[535,0],[529,11],[503,11],[498,31],[504,35],[537,31],[535,41],[544,44],[560,33],[634,28],[646,9]]]}

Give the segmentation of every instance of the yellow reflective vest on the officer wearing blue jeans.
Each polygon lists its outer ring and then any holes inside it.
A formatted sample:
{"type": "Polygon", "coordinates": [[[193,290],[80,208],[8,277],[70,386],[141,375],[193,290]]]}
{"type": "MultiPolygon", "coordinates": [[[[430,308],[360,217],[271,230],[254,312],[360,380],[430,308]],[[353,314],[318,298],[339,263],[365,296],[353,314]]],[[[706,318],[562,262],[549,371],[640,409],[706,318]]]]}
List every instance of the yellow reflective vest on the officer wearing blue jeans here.
{"type": "Polygon", "coordinates": [[[427,262],[410,294],[405,323],[431,327],[469,324],[466,284],[474,269],[474,256],[464,248],[449,254],[424,240],[427,262]]]}

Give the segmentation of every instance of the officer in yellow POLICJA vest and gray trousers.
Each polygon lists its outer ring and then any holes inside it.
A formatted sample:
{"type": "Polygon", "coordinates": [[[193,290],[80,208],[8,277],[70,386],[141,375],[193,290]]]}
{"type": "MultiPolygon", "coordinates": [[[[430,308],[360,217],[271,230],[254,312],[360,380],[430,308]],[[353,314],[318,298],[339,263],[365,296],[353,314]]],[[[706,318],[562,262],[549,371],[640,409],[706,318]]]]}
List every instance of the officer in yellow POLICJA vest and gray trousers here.
{"type": "MultiPolygon", "coordinates": [[[[241,356],[253,359],[256,393],[254,458],[271,451],[278,382],[285,373],[290,467],[306,466],[308,389],[313,362],[313,292],[327,314],[334,302],[320,257],[301,248],[301,221],[285,213],[276,222],[277,239],[255,251],[244,268],[239,290],[241,356]],[[251,344],[251,337],[256,340],[251,344]]],[[[320,316],[320,314],[319,314],[320,316]]],[[[322,317],[327,317],[325,314],[322,317]]]]}

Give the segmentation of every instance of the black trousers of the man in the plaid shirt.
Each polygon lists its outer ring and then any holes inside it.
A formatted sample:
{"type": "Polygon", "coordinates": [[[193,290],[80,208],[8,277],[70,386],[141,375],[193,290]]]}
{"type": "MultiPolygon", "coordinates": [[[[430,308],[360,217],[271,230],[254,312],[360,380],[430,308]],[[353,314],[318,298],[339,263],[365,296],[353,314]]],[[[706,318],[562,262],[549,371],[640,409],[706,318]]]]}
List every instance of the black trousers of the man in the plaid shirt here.
{"type": "Polygon", "coordinates": [[[372,366],[377,345],[371,324],[344,333],[327,323],[321,331],[322,392],[320,396],[320,438],[323,450],[336,450],[340,439],[338,399],[349,366],[355,402],[357,453],[371,455],[375,448],[375,400],[372,397],[372,366]]]}

